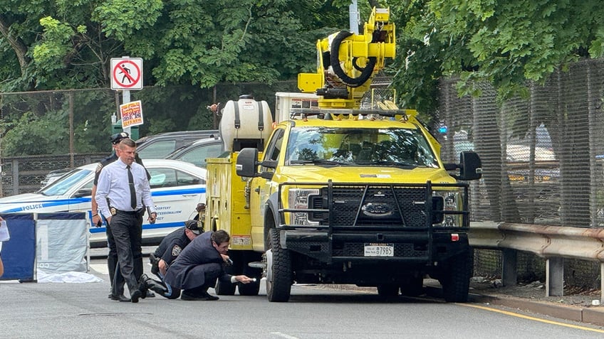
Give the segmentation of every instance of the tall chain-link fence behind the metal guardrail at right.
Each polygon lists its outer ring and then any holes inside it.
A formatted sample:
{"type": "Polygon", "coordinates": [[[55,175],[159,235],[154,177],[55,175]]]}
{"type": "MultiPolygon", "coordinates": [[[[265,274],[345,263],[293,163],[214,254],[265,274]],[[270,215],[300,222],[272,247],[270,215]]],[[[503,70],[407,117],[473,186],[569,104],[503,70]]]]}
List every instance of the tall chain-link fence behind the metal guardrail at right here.
{"type": "MultiPolygon", "coordinates": [[[[571,227],[604,226],[604,60],[583,60],[555,72],[529,97],[497,104],[496,91],[458,97],[443,80],[437,112],[442,157],[481,156],[483,178],[472,183],[472,220],[571,227]]],[[[499,252],[477,252],[477,273],[500,274],[499,252]]],[[[569,285],[598,286],[598,263],[565,261],[569,285]]],[[[544,281],[543,259],[519,255],[519,277],[544,281]]]]}

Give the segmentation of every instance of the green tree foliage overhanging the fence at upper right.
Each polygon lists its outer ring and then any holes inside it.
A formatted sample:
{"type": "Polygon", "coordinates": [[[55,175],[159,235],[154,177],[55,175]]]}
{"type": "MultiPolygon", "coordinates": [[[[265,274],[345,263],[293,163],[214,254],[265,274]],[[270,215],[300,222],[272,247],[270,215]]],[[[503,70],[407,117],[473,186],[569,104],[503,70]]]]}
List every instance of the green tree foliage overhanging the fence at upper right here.
{"type": "Polygon", "coordinates": [[[603,55],[604,7],[575,0],[409,0],[398,14],[400,53],[395,85],[405,100],[434,109],[436,80],[460,75],[459,94],[491,82],[499,98],[526,94],[581,57],[603,55]]]}

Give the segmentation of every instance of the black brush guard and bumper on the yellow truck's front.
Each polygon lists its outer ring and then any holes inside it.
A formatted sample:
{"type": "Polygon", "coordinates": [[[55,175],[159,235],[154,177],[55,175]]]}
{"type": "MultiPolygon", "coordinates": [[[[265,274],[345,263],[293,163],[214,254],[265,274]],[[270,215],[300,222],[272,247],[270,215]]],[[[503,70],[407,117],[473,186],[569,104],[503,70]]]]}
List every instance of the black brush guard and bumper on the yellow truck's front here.
{"type": "Polygon", "coordinates": [[[370,184],[281,183],[278,196],[289,188],[318,189],[308,208],[284,208],[279,199],[281,244],[319,263],[397,264],[412,267],[437,264],[468,245],[467,183],[370,184]],[[439,188],[462,188],[462,209],[444,210],[432,197],[439,188]],[[304,213],[318,225],[294,225],[286,212],[304,213]],[[447,215],[461,215],[459,227],[439,225],[447,215]],[[457,235],[457,240],[452,240],[457,235]],[[366,257],[366,244],[387,244],[392,257],[366,257]]]}

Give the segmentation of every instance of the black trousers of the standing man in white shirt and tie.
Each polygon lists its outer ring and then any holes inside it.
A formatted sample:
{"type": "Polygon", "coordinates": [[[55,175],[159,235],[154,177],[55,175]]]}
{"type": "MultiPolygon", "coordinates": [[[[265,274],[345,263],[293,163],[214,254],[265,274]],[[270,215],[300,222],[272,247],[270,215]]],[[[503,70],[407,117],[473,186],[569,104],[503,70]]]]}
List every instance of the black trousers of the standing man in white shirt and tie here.
{"type": "MultiPolygon", "coordinates": [[[[137,289],[138,279],[136,272],[139,266],[135,262],[140,261],[140,274],[142,274],[142,212],[116,212],[111,217],[111,234],[115,241],[115,249],[118,252],[118,264],[120,274],[113,276],[113,294],[117,295],[117,276],[123,276],[125,283],[130,289],[130,295],[137,289]]],[[[116,269],[117,273],[118,269],[116,269]]]]}

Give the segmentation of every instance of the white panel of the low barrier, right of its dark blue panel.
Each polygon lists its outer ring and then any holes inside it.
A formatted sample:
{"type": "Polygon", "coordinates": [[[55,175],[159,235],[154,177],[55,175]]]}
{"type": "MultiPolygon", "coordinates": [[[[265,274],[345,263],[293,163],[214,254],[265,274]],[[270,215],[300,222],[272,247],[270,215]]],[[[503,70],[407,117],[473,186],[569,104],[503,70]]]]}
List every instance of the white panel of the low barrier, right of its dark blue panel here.
{"type": "MultiPolygon", "coordinates": [[[[38,274],[88,271],[88,223],[83,212],[39,213],[36,220],[38,274]]],[[[38,276],[38,281],[40,276],[38,276]]]]}

